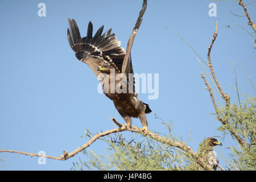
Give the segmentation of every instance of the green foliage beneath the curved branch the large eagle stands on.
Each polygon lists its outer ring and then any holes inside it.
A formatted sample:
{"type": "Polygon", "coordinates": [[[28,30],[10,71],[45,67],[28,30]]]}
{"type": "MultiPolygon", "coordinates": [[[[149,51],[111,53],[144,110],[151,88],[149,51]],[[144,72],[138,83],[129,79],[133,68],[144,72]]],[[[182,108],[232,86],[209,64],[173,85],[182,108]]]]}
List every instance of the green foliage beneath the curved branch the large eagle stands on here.
{"type": "MultiPolygon", "coordinates": [[[[170,125],[164,123],[170,129],[170,125]]],[[[169,130],[171,131],[171,130],[169,130]]],[[[84,152],[89,158],[88,162],[75,162],[71,169],[96,169],[96,170],[186,170],[198,169],[198,164],[191,155],[177,147],[171,147],[160,143],[150,137],[138,141],[134,133],[130,139],[125,139],[122,134],[117,133],[108,136],[103,140],[108,143],[109,151],[105,156],[99,156],[93,151],[84,152]],[[194,162],[193,165],[191,162],[194,162]]],[[[164,135],[166,138],[177,140],[174,135],[164,135]]],[[[180,141],[179,141],[180,142],[180,141]]]]}

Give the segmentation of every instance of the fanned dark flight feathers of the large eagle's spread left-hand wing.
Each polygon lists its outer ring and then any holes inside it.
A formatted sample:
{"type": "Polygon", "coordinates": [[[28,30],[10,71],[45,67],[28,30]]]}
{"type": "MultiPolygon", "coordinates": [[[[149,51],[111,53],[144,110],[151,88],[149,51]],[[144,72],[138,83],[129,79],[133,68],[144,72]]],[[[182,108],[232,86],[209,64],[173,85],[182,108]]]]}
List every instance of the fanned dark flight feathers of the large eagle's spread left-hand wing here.
{"type": "Polygon", "coordinates": [[[92,22],[89,22],[87,36],[81,38],[75,19],[68,19],[68,22],[70,28],[70,30],[68,28],[68,42],[73,51],[76,52],[77,59],[86,59],[89,55],[101,56],[106,61],[112,59],[117,66],[120,64],[122,67],[125,50],[119,47],[121,42],[117,41],[115,34],[111,34],[112,28],[101,35],[104,28],[101,26],[92,36],[93,25],[92,22]]]}

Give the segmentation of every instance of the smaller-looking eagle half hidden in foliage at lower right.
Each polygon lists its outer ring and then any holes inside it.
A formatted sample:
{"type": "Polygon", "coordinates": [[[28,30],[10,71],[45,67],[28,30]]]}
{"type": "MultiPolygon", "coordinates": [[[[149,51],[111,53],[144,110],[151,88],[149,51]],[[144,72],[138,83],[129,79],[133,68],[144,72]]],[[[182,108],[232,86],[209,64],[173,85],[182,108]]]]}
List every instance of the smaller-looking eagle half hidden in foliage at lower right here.
{"type": "Polygon", "coordinates": [[[218,158],[213,151],[214,146],[222,146],[222,144],[216,138],[206,138],[203,143],[201,143],[197,155],[201,156],[214,170],[216,170],[218,166],[218,158]]]}

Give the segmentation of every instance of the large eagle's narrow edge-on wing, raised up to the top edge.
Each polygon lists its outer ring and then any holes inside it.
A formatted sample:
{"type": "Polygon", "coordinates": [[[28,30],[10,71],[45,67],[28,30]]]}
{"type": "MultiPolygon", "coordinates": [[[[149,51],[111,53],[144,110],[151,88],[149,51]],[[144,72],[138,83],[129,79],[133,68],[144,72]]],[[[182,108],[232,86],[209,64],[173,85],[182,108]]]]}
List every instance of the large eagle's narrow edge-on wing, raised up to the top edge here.
{"type": "Polygon", "coordinates": [[[147,8],[147,0],[143,0],[142,9],[141,9],[141,11],[139,11],[139,16],[138,16],[137,22],[135,23],[133,32],[131,32],[130,38],[127,43],[125,57],[123,58],[122,73],[126,72],[127,63],[128,63],[129,56],[131,53],[131,47],[133,46],[135,35],[137,34],[139,27],[141,26],[142,16],[144,15],[146,8],[147,8]]]}

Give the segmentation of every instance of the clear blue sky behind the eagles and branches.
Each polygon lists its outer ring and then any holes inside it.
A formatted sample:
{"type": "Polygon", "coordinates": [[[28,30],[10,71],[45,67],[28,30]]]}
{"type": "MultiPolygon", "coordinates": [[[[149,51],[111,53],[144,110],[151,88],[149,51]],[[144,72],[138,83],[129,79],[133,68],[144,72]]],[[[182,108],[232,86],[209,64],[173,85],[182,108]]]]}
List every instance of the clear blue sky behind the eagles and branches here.
{"type": "MultiPolygon", "coordinates": [[[[210,17],[209,1],[148,1],[141,28],[131,50],[134,72],[159,73],[159,98],[148,100],[148,93],[139,94],[142,101],[165,121],[172,121],[177,136],[192,148],[205,137],[222,136],[217,130],[214,107],[209,93],[204,89],[196,60],[199,58],[170,28],[180,34],[207,60],[208,46],[212,40],[216,21],[218,36],[211,58],[218,81],[224,91],[237,101],[232,60],[236,66],[238,89],[255,96],[242,61],[255,83],[254,39],[247,31],[246,17],[237,2],[214,2],[217,16],[210,17]],[[225,26],[229,25],[227,30],[225,26]]],[[[256,4],[247,6],[256,22],[256,4]]],[[[104,94],[97,92],[98,81],[90,68],[78,61],[67,40],[68,18],[74,18],[81,36],[86,36],[91,20],[94,32],[104,24],[104,30],[113,28],[122,47],[126,48],[134,23],[141,10],[142,1],[0,1],[0,148],[24,152],[46,151],[59,156],[63,151],[73,151],[88,139],[80,139],[89,129],[92,133],[113,129],[109,117],[125,123],[104,94]],[[38,4],[46,4],[46,17],[38,16],[38,4]]],[[[209,81],[209,79],[208,79],[209,81]]],[[[242,96],[241,96],[242,97],[242,96]]],[[[242,99],[244,99],[242,97],[242,99]]],[[[148,129],[167,133],[166,127],[154,114],[147,114],[148,129]]],[[[139,119],[133,125],[141,127],[139,119]]],[[[123,132],[125,137],[132,135],[123,132]]],[[[225,137],[223,146],[217,147],[229,159],[230,145],[236,142],[225,137]]],[[[89,147],[98,155],[108,152],[107,145],[97,141],[89,147]]],[[[88,152],[90,152],[88,150],[88,152]]],[[[38,158],[18,154],[0,154],[1,170],[68,170],[75,160],[86,160],[79,154],[67,161],[47,159],[39,165],[38,158]]],[[[226,163],[220,159],[221,166],[226,163]]]]}

